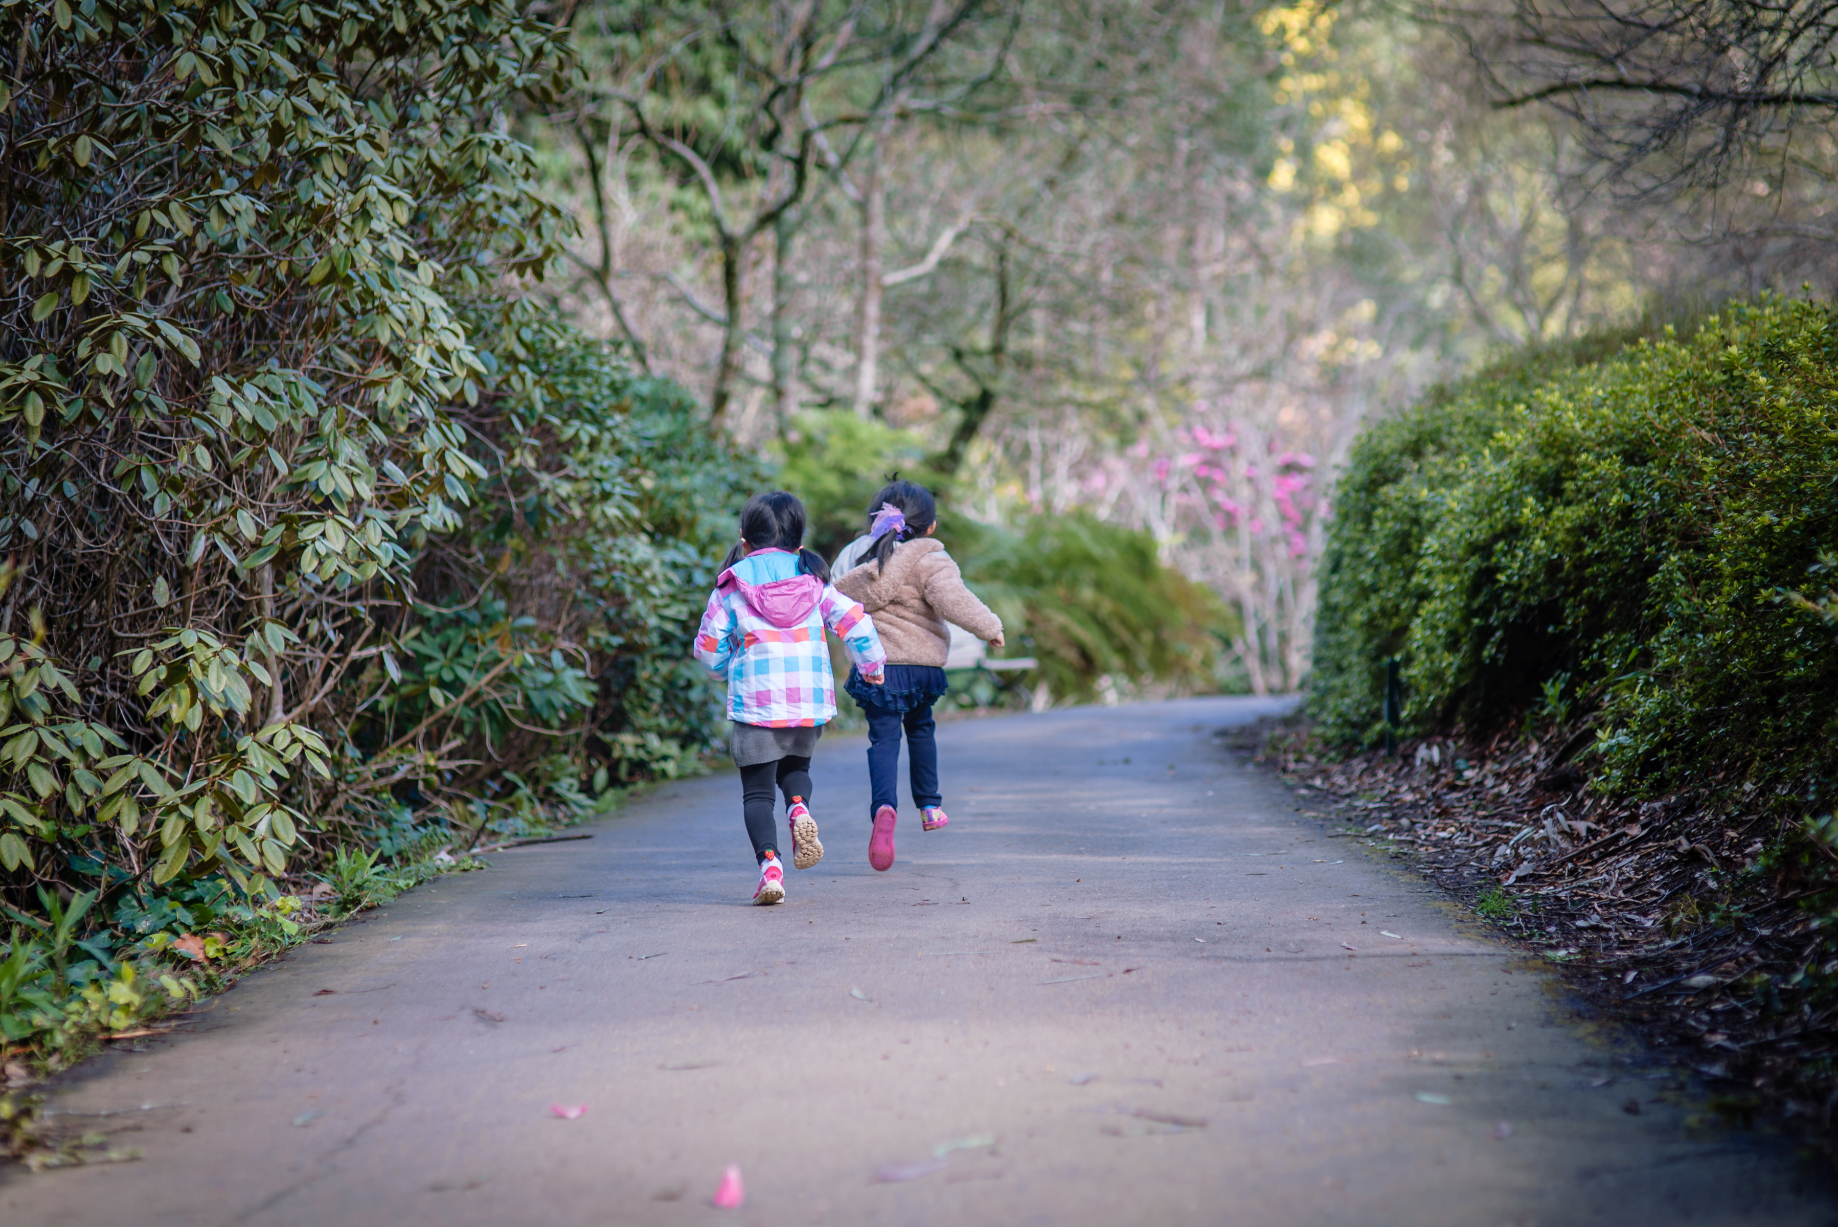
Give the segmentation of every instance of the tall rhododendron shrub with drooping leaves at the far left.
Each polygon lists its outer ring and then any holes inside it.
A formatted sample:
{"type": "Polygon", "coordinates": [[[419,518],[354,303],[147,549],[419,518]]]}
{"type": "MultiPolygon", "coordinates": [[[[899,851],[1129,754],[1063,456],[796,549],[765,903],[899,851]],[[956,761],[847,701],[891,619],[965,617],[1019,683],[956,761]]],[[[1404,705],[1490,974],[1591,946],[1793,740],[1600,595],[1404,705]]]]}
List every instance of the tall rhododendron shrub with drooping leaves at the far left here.
{"type": "Polygon", "coordinates": [[[287,869],[303,773],[347,784],[316,713],[485,478],[447,411],[489,373],[463,303],[562,230],[494,123],[562,81],[559,31],[412,13],[0,11],[0,634],[44,614],[0,643],[7,872],[99,839],[136,882],[250,884],[287,869]]]}

